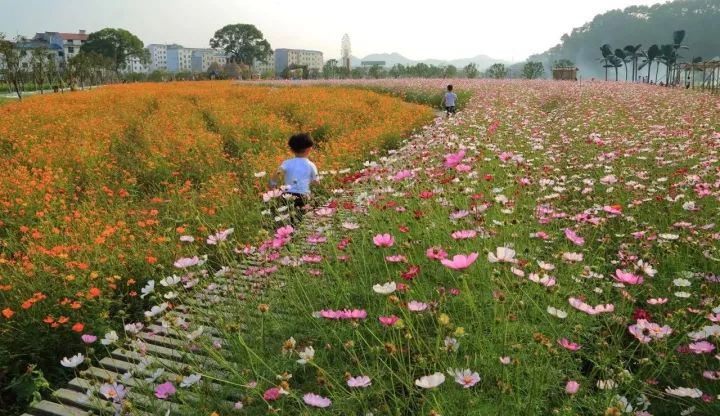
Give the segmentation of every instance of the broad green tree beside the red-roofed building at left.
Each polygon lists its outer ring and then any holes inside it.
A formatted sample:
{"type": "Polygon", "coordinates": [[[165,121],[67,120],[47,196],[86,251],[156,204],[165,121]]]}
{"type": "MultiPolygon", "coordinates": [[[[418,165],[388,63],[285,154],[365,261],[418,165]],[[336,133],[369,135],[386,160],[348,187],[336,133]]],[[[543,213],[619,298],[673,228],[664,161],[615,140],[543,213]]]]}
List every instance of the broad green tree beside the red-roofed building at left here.
{"type": "Polygon", "coordinates": [[[80,52],[95,53],[112,61],[115,74],[125,68],[129,58],[146,58],[143,42],[125,29],[105,28],[93,32],[80,52]]]}

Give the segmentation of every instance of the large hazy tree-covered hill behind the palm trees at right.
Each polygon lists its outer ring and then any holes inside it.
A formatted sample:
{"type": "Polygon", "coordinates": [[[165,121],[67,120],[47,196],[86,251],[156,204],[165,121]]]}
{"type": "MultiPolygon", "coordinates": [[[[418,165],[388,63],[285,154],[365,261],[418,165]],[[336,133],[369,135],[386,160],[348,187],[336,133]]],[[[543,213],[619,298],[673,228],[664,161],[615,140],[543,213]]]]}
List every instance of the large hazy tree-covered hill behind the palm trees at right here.
{"type": "MultiPolygon", "coordinates": [[[[672,43],[672,32],[675,30],[686,31],[683,44],[689,49],[680,50],[684,61],[698,56],[711,59],[720,55],[720,0],[676,0],[611,10],[563,35],[561,43],[543,53],[531,55],[528,60],[543,62],[547,74],[553,62],[570,59],[580,68],[582,78],[600,78],[605,74],[598,62],[603,44],[610,44],[613,51],[626,45],[642,45],[642,49],[647,50],[653,44],[672,43]]],[[[513,69],[520,67],[513,65],[513,69]]],[[[651,68],[653,77],[655,68],[655,65],[651,68]]],[[[621,69],[620,74],[624,77],[623,71],[621,69]]],[[[660,74],[663,73],[661,65],[660,74]]],[[[640,75],[647,76],[647,68],[640,71],[640,75]]]]}

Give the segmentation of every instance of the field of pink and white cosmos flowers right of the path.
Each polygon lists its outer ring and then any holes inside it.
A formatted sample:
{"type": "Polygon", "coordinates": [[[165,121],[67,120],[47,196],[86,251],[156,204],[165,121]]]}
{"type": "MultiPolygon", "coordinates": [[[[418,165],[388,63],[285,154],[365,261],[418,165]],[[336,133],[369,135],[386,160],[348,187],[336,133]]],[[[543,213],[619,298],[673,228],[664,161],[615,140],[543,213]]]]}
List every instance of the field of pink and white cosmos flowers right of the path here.
{"type": "MultiPolygon", "coordinates": [[[[177,327],[231,376],[155,373],[156,397],[197,414],[720,414],[718,97],[456,86],[464,111],[242,250],[262,265],[225,264],[284,285],[218,318],[226,344],[177,327]],[[240,398],[193,401],[210,382],[240,398]]],[[[204,246],[182,273],[218,273],[193,260],[204,246]]]]}

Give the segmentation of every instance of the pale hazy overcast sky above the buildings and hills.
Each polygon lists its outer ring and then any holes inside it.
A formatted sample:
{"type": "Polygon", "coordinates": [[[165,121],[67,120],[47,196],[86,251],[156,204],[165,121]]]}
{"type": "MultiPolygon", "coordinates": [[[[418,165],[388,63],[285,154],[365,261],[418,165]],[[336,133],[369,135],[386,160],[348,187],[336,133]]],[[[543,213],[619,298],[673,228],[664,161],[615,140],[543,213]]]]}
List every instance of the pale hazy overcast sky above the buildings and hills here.
{"type": "Polygon", "coordinates": [[[411,59],[478,54],[519,61],[610,9],[657,0],[0,0],[0,32],[88,32],[122,27],[145,44],[207,47],[215,30],[252,23],[273,48],[338,57],[399,52],[411,59]]]}

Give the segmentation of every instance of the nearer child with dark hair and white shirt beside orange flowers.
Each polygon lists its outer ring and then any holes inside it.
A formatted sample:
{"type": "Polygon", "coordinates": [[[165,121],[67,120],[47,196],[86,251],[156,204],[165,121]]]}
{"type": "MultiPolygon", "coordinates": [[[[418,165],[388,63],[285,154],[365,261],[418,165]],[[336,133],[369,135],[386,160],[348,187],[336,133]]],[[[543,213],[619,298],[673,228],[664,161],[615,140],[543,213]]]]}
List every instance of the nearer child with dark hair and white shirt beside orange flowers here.
{"type": "MultiPolygon", "coordinates": [[[[318,172],[315,164],[308,160],[313,147],[313,140],[307,133],[300,133],[290,137],[288,146],[295,153],[295,157],[284,161],[270,178],[270,187],[275,189],[280,174],[284,176],[285,195],[294,199],[295,216],[300,219],[302,210],[308,203],[310,184],[318,181],[318,172]]],[[[293,218],[295,219],[295,218],[293,218]]]]}

